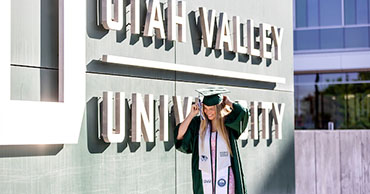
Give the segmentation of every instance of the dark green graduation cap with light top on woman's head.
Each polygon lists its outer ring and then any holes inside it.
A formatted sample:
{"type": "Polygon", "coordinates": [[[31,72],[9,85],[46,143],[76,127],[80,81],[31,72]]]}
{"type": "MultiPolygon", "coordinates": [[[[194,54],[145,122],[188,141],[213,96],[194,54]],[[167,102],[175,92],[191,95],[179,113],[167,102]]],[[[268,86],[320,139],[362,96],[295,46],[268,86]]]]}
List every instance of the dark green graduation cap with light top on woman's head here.
{"type": "Polygon", "coordinates": [[[222,102],[221,94],[230,93],[229,90],[222,87],[209,87],[195,90],[199,94],[203,95],[203,104],[207,106],[213,106],[222,102]]]}

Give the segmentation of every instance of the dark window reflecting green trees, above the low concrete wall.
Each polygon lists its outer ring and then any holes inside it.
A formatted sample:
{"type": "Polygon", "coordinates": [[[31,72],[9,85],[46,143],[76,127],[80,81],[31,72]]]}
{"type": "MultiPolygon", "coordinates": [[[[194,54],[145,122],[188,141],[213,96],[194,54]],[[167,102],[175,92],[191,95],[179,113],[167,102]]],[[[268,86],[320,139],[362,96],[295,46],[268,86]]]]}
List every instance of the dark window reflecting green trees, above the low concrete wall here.
{"type": "Polygon", "coordinates": [[[370,72],[295,76],[296,129],[370,128],[370,72]]]}

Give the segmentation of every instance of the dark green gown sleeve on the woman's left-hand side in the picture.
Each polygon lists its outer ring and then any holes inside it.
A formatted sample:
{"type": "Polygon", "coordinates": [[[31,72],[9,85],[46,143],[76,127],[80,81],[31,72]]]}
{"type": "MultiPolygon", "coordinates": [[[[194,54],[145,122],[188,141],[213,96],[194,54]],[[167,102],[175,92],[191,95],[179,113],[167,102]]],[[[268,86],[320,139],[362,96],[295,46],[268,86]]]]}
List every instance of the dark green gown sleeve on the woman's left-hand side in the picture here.
{"type": "Polygon", "coordinates": [[[187,154],[193,153],[194,141],[195,141],[195,138],[197,137],[197,133],[199,131],[200,117],[199,116],[194,117],[193,120],[191,120],[191,122],[188,126],[188,129],[186,130],[186,132],[184,134],[183,139],[177,140],[176,137],[177,137],[178,132],[179,132],[180,124],[181,123],[179,123],[175,128],[175,133],[174,133],[175,147],[176,147],[176,149],[178,149],[181,152],[184,152],[184,153],[187,153],[187,154]]]}

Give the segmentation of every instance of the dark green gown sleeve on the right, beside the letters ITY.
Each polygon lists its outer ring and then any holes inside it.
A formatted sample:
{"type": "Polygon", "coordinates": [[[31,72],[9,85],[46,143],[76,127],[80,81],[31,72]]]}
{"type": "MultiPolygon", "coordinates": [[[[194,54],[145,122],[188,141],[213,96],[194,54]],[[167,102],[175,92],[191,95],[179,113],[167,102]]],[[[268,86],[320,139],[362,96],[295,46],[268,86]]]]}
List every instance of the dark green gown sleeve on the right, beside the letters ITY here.
{"type": "Polygon", "coordinates": [[[244,132],[249,119],[249,111],[238,103],[233,103],[233,110],[225,118],[225,126],[232,129],[236,138],[244,132]]]}

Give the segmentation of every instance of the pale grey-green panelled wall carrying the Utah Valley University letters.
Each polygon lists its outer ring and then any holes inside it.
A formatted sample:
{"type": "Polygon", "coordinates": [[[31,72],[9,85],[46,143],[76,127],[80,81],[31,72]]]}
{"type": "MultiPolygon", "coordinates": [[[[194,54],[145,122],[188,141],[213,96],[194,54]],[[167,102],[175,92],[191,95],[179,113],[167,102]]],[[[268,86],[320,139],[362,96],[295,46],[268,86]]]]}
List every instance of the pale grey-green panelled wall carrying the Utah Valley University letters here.
{"type": "MultiPolygon", "coordinates": [[[[11,98],[57,101],[57,2],[13,0],[11,5],[11,98]]],[[[187,1],[187,42],[171,43],[131,35],[128,29],[105,30],[97,25],[97,2],[87,0],[86,108],[78,144],[0,146],[2,193],[190,193],[191,156],[175,150],[172,132],[169,142],[160,141],[156,132],[154,143],[133,143],[129,137],[118,144],[104,143],[98,138],[99,102],[104,91],[125,92],[128,134],[131,94],[153,94],[157,130],[159,95],[196,97],[195,89],[214,85],[228,88],[233,100],[286,104],[282,140],[248,139],[239,146],[249,193],[294,193],[291,8],[290,1],[187,1]],[[217,15],[224,11],[229,19],[237,15],[242,21],[254,19],[255,25],[264,22],[283,27],[283,60],[205,49],[197,26],[200,6],[215,9],[217,15]],[[104,54],[279,76],[286,78],[286,83],[108,64],[100,61],[104,54]]],[[[173,128],[171,115],[170,131],[173,128]]]]}

